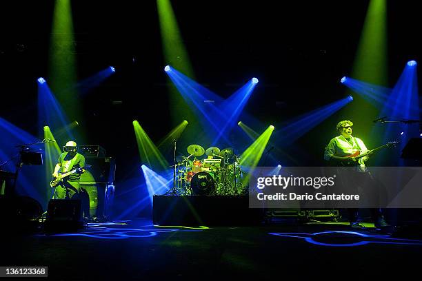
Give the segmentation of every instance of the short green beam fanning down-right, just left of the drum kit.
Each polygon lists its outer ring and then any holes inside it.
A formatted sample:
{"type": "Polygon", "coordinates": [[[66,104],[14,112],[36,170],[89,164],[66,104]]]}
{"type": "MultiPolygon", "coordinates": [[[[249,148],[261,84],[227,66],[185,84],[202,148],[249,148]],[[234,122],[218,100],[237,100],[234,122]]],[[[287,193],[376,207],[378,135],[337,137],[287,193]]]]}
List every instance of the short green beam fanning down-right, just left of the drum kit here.
{"type": "Polygon", "coordinates": [[[141,125],[139,125],[139,122],[135,120],[132,124],[137,138],[141,163],[145,165],[148,164],[148,167],[151,167],[151,169],[154,169],[155,171],[168,169],[169,165],[167,160],[165,160],[161,152],[159,152],[159,149],[151,141],[148,134],[146,134],[141,125]]]}

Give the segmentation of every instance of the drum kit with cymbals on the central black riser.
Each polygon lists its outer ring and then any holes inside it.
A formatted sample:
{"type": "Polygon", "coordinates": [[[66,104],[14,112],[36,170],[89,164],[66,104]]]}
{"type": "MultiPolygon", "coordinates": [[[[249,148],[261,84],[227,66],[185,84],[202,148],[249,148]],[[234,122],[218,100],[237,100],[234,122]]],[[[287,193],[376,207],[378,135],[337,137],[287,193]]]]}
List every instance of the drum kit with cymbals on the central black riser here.
{"type": "MultiPolygon", "coordinates": [[[[175,186],[181,195],[236,195],[243,194],[245,174],[231,147],[203,149],[189,145],[188,157],[176,156],[175,186]],[[206,155],[205,158],[200,158],[206,155]]],[[[173,166],[174,167],[174,166],[173,166]]]]}

